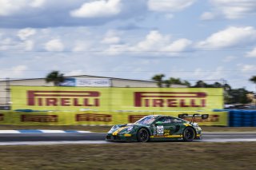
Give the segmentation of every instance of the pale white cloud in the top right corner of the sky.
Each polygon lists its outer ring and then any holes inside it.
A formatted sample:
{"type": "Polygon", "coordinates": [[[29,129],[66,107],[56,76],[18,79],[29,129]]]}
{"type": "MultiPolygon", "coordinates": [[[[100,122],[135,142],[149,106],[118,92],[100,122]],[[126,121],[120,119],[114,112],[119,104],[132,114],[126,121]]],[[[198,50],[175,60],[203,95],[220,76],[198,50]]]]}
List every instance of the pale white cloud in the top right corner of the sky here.
{"type": "Polygon", "coordinates": [[[254,0],[210,0],[210,3],[214,14],[221,14],[227,19],[242,18],[256,12],[254,0]]]}

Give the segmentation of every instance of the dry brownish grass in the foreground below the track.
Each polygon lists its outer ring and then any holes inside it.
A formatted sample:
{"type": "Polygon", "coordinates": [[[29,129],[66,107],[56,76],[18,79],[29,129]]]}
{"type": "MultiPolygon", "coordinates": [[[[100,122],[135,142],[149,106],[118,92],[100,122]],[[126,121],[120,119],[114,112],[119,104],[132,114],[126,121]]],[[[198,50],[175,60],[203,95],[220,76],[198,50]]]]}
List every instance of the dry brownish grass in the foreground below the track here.
{"type": "Polygon", "coordinates": [[[256,142],[0,146],[0,169],[255,169],[256,142]]]}

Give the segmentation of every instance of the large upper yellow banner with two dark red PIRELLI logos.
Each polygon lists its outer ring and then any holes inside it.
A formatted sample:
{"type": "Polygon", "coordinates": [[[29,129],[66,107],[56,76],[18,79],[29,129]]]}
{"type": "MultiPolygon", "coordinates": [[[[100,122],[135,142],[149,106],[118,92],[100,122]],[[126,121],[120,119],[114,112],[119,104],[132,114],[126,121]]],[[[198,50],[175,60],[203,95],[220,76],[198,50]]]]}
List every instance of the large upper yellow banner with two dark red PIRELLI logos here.
{"type": "MultiPolygon", "coordinates": [[[[12,86],[13,109],[182,111],[222,109],[221,88],[86,88],[12,86]]],[[[82,116],[79,119],[87,120],[82,116]]],[[[95,118],[94,118],[95,119],[95,118]]],[[[107,120],[108,118],[101,118],[107,120]]]]}

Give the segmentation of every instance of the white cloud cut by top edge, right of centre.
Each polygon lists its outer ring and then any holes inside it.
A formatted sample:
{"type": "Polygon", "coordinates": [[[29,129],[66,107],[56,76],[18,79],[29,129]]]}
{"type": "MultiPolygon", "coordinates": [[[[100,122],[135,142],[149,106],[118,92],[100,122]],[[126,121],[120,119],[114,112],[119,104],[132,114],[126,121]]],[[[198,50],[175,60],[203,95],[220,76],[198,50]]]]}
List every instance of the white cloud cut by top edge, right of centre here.
{"type": "Polygon", "coordinates": [[[149,0],[149,10],[158,12],[176,12],[194,4],[196,0],[149,0]]]}

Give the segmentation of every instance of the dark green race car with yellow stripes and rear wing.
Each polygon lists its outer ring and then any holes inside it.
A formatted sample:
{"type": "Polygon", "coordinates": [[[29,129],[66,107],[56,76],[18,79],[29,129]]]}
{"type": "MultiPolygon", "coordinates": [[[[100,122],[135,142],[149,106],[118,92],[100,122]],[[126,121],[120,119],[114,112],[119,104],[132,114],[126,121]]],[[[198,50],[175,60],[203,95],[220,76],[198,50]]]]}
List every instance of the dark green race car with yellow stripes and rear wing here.
{"type": "Polygon", "coordinates": [[[154,140],[200,140],[202,128],[194,123],[195,118],[207,119],[208,114],[180,114],[178,117],[165,115],[149,115],[142,117],[134,124],[114,125],[106,134],[108,141],[138,141],[154,140]],[[191,117],[190,121],[184,120],[191,117]]]}

